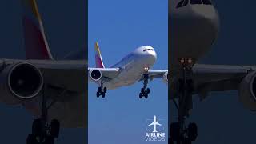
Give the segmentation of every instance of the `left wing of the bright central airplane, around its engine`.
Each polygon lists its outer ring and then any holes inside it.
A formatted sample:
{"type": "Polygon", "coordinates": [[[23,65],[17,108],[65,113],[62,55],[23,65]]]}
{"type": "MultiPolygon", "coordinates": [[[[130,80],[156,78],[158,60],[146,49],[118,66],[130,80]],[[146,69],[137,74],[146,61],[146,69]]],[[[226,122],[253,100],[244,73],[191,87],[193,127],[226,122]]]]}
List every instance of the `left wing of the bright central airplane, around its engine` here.
{"type": "Polygon", "coordinates": [[[90,78],[90,71],[98,70],[102,73],[102,78],[112,79],[118,76],[120,73],[119,68],[88,68],[88,77],[90,78]]]}

